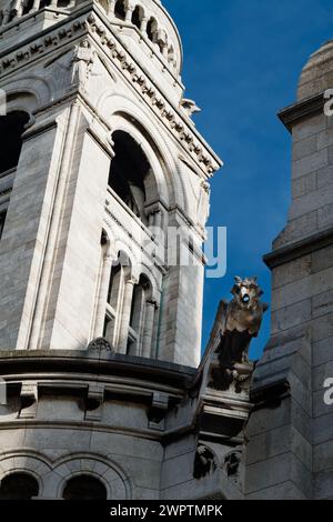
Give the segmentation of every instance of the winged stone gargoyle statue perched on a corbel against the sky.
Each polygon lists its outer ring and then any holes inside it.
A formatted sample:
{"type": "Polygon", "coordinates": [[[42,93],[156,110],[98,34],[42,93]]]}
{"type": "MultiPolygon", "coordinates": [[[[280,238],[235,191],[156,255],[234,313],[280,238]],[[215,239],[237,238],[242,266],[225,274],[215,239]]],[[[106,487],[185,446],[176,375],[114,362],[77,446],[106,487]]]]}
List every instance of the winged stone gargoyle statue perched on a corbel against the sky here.
{"type": "Polygon", "coordinates": [[[252,373],[249,349],[261,328],[264,312],[269,309],[260,298],[263,291],[256,278],[235,278],[231,290],[232,301],[222,302],[220,308],[219,343],[215,344],[219,369],[212,370],[211,387],[226,390],[233,381],[241,382],[252,373]]]}

